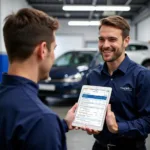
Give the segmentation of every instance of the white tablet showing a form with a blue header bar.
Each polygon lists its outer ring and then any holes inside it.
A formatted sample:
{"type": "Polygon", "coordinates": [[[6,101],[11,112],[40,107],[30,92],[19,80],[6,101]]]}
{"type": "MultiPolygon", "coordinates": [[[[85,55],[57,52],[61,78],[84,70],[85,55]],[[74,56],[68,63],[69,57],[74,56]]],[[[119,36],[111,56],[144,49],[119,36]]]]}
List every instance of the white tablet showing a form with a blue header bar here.
{"type": "Polygon", "coordinates": [[[111,87],[83,85],[72,125],[102,131],[111,92],[111,87]]]}

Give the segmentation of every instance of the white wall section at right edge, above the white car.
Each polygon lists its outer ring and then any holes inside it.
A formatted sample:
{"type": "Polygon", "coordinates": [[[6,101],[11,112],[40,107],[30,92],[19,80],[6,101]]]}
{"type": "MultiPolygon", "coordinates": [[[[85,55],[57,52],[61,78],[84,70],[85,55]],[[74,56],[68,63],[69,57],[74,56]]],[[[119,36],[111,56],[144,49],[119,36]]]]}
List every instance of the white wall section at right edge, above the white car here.
{"type": "Polygon", "coordinates": [[[137,39],[150,41],[150,17],[137,24],[137,39]]]}

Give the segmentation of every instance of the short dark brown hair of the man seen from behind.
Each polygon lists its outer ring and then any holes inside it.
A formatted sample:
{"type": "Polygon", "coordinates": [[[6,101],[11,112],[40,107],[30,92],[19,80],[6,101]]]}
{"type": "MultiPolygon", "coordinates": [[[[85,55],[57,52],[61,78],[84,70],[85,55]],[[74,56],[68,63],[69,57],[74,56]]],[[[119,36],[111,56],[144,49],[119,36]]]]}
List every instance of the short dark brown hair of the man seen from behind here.
{"type": "Polygon", "coordinates": [[[10,63],[29,58],[40,42],[45,41],[49,49],[59,26],[57,19],[33,8],[20,9],[5,21],[3,35],[10,63]]]}

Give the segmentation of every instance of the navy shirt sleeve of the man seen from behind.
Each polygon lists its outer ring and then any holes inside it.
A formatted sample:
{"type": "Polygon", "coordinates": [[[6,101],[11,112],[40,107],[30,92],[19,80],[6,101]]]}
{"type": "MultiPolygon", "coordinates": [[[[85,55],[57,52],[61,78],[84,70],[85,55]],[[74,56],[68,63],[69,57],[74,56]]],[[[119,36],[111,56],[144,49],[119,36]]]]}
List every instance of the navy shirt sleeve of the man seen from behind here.
{"type": "Polygon", "coordinates": [[[66,137],[61,120],[43,115],[32,127],[26,141],[26,150],[66,150],[66,137]]]}

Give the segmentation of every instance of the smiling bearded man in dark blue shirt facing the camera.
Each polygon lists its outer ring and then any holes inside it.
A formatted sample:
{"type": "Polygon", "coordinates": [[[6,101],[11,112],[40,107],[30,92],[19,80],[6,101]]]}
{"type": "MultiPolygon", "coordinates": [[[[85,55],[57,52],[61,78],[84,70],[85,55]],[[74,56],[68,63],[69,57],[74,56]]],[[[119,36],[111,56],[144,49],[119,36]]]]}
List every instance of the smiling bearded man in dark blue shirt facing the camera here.
{"type": "Polygon", "coordinates": [[[120,16],[101,20],[99,51],[105,61],[87,77],[88,85],[112,87],[101,132],[86,129],[96,139],[93,150],[146,150],[150,133],[150,71],[125,54],[130,27],[120,16]]]}

